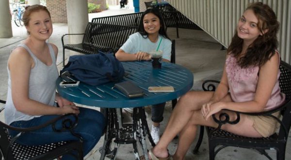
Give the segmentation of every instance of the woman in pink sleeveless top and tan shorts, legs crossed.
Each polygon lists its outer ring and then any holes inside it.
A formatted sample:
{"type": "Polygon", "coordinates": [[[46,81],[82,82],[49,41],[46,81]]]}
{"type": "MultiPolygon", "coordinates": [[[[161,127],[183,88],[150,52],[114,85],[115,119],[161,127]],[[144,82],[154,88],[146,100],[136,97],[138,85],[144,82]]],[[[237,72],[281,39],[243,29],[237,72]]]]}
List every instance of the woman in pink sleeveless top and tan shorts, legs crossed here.
{"type": "MultiPolygon", "coordinates": [[[[195,139],[197,126],[217,127],[210,116],[222,109],[262,112],[284,102],[285,95],[280,92],[278,81],[278,29],[276,15],[268,5],[257,2],[246,8],[228,47],[216,91],[190,91],[179,99],[161,140],[149,151],[151,159],[170,159],[167,146],[179,134],[173,159],[183,160],[195,139]]],[[[275,132],[276,124],[270,117],[241,115],[238,124],[225,124],[222,129],[247,137],[268,137],[275,132]]]]}

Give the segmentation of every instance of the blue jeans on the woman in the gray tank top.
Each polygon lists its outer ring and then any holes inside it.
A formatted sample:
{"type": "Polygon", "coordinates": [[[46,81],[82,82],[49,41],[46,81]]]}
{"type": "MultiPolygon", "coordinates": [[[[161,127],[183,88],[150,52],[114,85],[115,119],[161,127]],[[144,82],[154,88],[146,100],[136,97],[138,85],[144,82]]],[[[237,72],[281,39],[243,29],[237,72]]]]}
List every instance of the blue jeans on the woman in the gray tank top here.
{"type": "MultiPolygon", "coordinates": [[[[55,117],[58,117],[58,115],[40,116],[28,121],[15,121],[10,125],[20,128],[28,128],[46,123],[55,117]]],[[[96,110],[81,107],[78,118],[78,125],[75,127],[74,132],[83,137],[82,147],[83,156],[85,156],[97,144],[102,136],[105,127],[105,118],[96,110]]],[[[72,119],[74,118],[72,117],[72,119]]],[[[56,123],[56,128],[62,128],[61,120],[56,123]]],[[[15,136],[18,132],[9,130],[9,133],[10,135],[15,136]]],[[[49,125],[40,130],[22,134],[16,142],[22,145],[45,145],[69,140],[78,140],[78,138],[73,136],[69,131],[55,132],[52,130],[51,125],[49,125]]],[[[62,160],[72,160],[72,156],[64,155],[62,160]]]]}

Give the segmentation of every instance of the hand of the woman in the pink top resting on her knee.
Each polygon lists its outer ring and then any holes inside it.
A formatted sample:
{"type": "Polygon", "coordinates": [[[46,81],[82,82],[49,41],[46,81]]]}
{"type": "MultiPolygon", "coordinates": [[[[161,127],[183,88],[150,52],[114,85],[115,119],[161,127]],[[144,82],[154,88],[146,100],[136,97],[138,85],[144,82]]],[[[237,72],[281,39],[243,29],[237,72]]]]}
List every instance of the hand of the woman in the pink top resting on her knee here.
{"type": "Polygon", "coordinates": [[[203,104],[202,108],[201,108],[201,113],[202,116],[204,116],[204,118],[206,120],[208,120],[208,118],[213,115],[218,113],[219,111],[221,111],[223,109],[224,106],[224,102],[209,102],[206,104],[203,104]]]}

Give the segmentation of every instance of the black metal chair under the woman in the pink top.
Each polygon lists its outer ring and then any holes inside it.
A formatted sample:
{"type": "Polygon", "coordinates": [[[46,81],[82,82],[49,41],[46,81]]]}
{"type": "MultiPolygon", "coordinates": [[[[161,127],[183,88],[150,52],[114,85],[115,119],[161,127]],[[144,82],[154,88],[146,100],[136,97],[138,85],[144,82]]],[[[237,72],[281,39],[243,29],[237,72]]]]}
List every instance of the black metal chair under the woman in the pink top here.
{"type": "MultiPolygon", "coordinates": [[[[260,112],[260,113],[241,113],[236,112],[238,118],[234,121],[229,121],[229,116],[226,113],[222,113],[219,116],[219,119],[216,119],[215,116],[212,118],[216,123],[219,124],[218,128],[210,128],[206,127],[206,131],[208,133],[209,140],[209,156],[210,160],[214,160],[216,154],[226,146],[237,146],[243,148],[252,148],[259,151],[262,155],[266,156],[269,160],[272,158],[267,154],[265,150],[275,149],[276,150],[276,158],[277,160],[285,160],[285,150],[288,139],[288,134],[291,126],[291,65],[287,64],[284,61],[280,62],[280,78],[279,85],[281,88],[281,92],[286,94],[285,102],[270,111],[260,112]],[[282,120],[272,116],[272,113],[280,111],[282,114],[282,120]],[[270,116],[275,118],[280,123],[280,129],[278,133],[274,133],[270,137],[267,138],[249,138],[239,136],[227,131],[220,130],[221,126],[229,123],[229,124],[237,124],[240,120],[240,114],[250,115],[250,116],[270,116]],[[216,146],[220,146],[215,150],[216,146]]],[[[208,80],[205,81],[202,85],[205,91],[214,91],[215,85],[212,83],[219,83],[219,81],[208,80]],[[209,84],[210,83],[210,84],[209,84]],[[209,84],[207,86],[207,84],[209,84]]],[[[200,127],[200,136],[199,140],[194,149],[194,154],[198,153],[198,149],[201,145],[203,138],[204,127],[200,127]]]]}

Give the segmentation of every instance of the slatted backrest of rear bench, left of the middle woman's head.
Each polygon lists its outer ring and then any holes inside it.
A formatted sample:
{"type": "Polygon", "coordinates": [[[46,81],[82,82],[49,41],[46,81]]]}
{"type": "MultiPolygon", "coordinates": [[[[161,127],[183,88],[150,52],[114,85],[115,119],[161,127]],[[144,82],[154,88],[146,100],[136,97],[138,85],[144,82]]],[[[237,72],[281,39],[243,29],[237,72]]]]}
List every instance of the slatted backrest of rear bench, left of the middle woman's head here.
{"type": "Polygon", "coordinates": [[[98,17],[98,18],[93,18],[91,22],[138,27],[142,14],[143,13],[140,12],[140,13],[133,13],[133,14],[125,14],[125,15],[98,17]]]}

